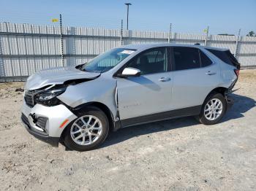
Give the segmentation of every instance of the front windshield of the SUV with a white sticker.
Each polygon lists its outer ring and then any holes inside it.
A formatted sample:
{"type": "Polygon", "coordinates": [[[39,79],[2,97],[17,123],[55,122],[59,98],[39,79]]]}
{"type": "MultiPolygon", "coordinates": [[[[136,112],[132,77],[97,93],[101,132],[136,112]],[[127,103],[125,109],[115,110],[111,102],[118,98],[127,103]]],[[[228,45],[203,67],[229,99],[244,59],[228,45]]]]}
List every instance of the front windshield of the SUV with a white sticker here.
{"type": "Polygon", "coordinates": [[[90,71],[90,72],[105,72],[127,58],[127,56],[131,55],[135,52],[134,49],[127,49],[127,48],[115,48],[105,52],[101,55],[98,55],[96,58],[89,61],[81,67],[83,71],[90,71]]]}

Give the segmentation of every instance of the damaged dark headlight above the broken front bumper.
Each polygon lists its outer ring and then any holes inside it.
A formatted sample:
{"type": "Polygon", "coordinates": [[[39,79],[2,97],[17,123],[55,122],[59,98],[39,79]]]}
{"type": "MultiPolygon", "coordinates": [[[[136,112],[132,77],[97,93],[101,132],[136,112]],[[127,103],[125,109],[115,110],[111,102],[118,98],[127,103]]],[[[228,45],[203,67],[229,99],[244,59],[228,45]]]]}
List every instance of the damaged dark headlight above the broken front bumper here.
{"type": "Polygon", "coordinates": [[[61,93],[64,93],[67,87],[61,87],[54,90],[45,90],[42,91],[42,93],[38,93],[37,95],[34,95],[34,101],[37,104],[42,104],[45,106],[56,106],[59,104],[59,99],[56,98],[58,95],[61,95],[61,93]]]}

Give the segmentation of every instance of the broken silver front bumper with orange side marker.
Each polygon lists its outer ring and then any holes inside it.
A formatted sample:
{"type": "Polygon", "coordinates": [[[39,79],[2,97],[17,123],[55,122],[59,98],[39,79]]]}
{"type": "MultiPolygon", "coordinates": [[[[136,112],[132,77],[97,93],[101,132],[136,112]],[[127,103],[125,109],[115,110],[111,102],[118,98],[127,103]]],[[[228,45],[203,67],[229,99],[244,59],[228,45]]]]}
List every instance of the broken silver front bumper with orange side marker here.
{"type": "Polygon", "coordinates": [[[21,120],[26,130],[42,141],[53,146],[59,145],[59,138],[69,122],[77,118],[66,106],[42,106],[36,104],[29,107],[23,102],[21,120]]]}

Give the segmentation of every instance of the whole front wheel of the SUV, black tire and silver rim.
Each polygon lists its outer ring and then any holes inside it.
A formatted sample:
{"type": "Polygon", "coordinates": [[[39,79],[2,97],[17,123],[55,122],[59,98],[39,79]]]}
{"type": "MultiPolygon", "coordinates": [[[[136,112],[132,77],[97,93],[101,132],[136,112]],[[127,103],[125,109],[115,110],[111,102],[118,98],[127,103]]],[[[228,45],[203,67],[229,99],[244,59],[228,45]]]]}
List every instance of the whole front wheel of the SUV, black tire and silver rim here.
{"type": "Polygon", "coordinates": [[[89,107],[77,115],[64,132],[66,147],[81,152],[99,147],[108,136],[108,117],[96,107],[89,107]]]}

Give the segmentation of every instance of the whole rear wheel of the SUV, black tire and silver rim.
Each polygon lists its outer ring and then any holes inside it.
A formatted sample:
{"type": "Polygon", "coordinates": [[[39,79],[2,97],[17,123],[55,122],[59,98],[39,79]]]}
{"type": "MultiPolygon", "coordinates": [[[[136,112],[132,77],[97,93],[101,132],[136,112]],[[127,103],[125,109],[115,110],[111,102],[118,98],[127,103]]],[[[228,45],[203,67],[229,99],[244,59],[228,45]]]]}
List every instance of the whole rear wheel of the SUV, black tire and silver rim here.
{"type": "Polygon", "coordinates": [[[214,125],[222,120],[226,110],[227,102],[224,96],[221,93],[212,93],[204,101],[197,120],[204,125],[214,125]]]}

